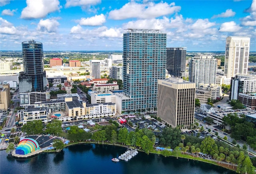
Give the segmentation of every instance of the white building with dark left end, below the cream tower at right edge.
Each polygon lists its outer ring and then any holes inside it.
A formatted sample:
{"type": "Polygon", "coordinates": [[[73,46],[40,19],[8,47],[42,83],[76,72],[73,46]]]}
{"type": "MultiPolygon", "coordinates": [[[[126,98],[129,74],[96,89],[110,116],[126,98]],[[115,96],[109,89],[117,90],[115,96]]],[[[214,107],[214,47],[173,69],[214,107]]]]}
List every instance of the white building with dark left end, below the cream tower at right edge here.
{"type": "Polygon", "coordinates": [[[232,77],[230,100],[237,100],[239,93],[256,93],[256,75],[237,74],[232,77]]]}

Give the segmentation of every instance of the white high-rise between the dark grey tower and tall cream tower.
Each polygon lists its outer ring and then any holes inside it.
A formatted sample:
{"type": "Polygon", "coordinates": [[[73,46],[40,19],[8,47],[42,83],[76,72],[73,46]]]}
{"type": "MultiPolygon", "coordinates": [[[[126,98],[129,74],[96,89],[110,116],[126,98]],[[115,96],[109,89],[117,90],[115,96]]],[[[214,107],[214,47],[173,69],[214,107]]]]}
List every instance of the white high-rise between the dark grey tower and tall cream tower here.
{"type": "Polygon", "coordinates": [[[200,83],[216,83],[217,61],[211,55],[195,55],[189,63],[189,81],[196,83],[196,88],[200,83]]]}

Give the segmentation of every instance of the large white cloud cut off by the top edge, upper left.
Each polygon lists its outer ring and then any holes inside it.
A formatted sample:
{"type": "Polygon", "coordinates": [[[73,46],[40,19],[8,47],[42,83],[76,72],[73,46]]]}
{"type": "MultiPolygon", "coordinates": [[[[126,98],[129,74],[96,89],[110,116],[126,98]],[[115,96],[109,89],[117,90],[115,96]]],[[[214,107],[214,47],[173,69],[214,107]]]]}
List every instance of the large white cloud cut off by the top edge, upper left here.
{"type": "Polygon", "coordinates": [[[21,12],[22,19],[44,18],[51,12],[60,11],[58,0],[26,0],[27,6],[21,12]]]}

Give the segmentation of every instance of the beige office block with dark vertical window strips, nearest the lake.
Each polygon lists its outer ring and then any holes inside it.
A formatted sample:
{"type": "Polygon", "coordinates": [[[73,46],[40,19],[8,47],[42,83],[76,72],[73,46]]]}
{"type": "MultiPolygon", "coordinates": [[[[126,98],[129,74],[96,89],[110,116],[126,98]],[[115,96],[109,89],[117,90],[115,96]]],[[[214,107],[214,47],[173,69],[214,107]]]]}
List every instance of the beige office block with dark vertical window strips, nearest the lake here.
{"type": "Polygon", "coordinates": [[[196,84],[179,78],[158,80],[157,116],[171,127],[194,124],[196,84]]]}

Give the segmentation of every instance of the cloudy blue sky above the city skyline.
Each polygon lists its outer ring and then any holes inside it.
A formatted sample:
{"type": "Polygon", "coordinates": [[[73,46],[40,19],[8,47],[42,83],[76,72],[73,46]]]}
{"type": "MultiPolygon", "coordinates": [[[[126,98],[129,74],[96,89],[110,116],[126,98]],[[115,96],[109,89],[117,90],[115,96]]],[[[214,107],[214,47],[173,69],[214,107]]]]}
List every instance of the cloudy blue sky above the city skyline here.
{"type": "Polygon", "coordinates": [[[250,37],[256,0],[0,0],[0,50],[26,40],[50,50],[122,50],[127,28],[157,29],[168,47],[224,51],[227,36],[250,37]]]}

